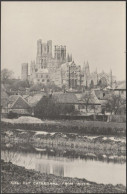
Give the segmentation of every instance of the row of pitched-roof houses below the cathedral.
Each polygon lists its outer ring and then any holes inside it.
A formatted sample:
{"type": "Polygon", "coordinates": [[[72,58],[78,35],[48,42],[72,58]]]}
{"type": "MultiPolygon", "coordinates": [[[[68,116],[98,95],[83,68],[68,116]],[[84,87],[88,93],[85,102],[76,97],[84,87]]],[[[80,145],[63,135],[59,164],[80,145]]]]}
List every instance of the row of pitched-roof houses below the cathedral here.
{"type": "MultiPolygon", "coordinates": [[[[126,96],[125,86],[115,89],[119,95],[126,96]]],[[[76,92],[54,92],[47,94],[44,91],[33,95],[11,95],[8,96],[4,86],[1,88],[1,113],[6,116],[13,112],[18,115],[34,115],[34,110],[42,98],[53,97],[59,104],[74,105],[80,114],[104,114],[110,89],[90,90],[83,93],[76,92]]]]}

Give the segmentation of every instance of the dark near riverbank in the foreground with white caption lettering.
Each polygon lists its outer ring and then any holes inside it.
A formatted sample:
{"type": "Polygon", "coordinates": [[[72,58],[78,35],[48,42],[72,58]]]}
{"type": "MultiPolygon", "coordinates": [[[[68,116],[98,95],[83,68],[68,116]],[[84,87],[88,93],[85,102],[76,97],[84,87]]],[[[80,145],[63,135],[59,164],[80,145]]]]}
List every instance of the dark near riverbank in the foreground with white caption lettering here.
{"type": "Polygon", "coordinates": [[[27,170],[1,161],[2,193],[126,193],[123,185],[97,184],[27,170]]]}

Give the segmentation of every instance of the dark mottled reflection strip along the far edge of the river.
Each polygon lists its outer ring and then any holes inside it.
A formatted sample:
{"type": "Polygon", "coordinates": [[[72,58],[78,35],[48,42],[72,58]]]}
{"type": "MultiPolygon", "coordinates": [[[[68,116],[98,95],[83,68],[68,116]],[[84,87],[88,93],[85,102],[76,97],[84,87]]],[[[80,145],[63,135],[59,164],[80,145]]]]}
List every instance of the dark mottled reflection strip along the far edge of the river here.
{"type": "Polygon", "coordinates": [[[96,160],[96,161],[101,161],[101,162],[108,162],[108,163],[119,163],[119,164],[124,164],[126,162],[126,153],[125,152],[114,152],[113,150],[107,152],[103,151],[98,151],[98,150],[91,150],[91,149],[84,149],[82,151],[75,151],[75,150],[68,150],[68,149],[63,149],[59,150],[53,146],[42,146],[41,148],[33,147],[32,145],[29,144],[29,147],[26,145],[14,145],[13,147],[6,147],[2,146],[2,150],[9,150],[9,151],[14,151],[14,152],[22,152],[22,153],[34,153],[37,154],[37,157],[41,158],[41,155],[47,155],[47,156],[52,156],[52,157],[59,157],[59,158],[81,158],[84,160],[96,160]]]}

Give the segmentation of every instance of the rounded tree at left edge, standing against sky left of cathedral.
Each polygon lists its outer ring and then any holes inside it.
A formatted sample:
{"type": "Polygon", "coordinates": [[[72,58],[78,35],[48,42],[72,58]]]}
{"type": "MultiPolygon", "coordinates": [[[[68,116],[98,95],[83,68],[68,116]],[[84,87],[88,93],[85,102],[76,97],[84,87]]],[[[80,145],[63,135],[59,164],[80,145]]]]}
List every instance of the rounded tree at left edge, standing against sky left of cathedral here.
{"type": "Polygon", "coordinates": [[[1,82],[3,84],[8,83],[8,80],[13,78],[13,74],[14,74],[13,71],[10,71],[8,69],[2,69],[2,71],[1,71],[1,82]]]}

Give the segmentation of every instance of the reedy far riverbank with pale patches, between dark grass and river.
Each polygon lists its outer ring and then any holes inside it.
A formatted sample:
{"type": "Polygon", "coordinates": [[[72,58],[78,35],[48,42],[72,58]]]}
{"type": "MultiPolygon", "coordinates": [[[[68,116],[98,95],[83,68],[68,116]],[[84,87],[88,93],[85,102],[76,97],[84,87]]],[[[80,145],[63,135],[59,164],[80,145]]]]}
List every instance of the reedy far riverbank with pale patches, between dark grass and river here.
{"type": "Polygon", "coordinates": [[[126,161],[126,138],[118,136],[90,136],[78,133],[58,133],[24,129],[2,128],[2,148],[40,152],[64,157],[81,157],[126,161]]]}

